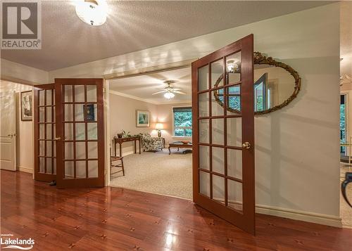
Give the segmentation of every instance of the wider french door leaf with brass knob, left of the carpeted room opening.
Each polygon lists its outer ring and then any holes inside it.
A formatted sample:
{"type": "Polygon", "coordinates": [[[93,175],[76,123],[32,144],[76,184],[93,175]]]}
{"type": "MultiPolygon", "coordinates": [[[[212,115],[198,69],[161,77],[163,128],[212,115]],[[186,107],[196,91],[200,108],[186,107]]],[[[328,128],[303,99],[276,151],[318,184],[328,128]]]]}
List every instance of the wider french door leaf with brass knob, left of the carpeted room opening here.
{"type": "Polygon", "coordinates": [[[58,188],[104,186],[103,79],[55,79],[58,188]]]}

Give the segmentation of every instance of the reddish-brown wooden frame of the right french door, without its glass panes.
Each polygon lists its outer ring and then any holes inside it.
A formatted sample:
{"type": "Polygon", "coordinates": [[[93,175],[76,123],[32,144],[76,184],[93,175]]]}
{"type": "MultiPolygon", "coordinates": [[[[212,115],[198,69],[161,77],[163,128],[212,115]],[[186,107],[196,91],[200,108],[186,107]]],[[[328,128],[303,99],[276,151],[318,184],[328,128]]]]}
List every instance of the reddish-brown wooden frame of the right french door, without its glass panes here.
{"type": "MultiPolygon", "coordinates": [[[[250,34],[243,39],[239,39],[239,41],[235,41],[234,43],[219,49],[213,53],[196,60],[192,63],[192,108],[193,118],[193,200],[196,204],[201,205],[206,210],[210,212],[214,212],[218,214],[220,217],[227,219],[232,222],[232,224],[236,224],[237,226],[241,226],[241,229],[248,231],[249,233],[255,234],[255,227],[253,228],[251,224],[248,222],[253,222],[255,226],[255,179],[254,179],[254,112],[253,114],[249,114],[249,112],[243,112],[244,110],[253,110],[254,111],[254,103],[253,103],[253,34],[250,34]],[[209,67],[209,79],[208,79],[208,91],[209,94],[209,109],[211,105],[211,90],[213,87],[211,86],[211,63],[224,58],[223,67],[225,72],[226,67],[226,56],[235,53],[236,51],[241,51],[241,75],[247,76],[241,78],[241,117],[242,117],[242,125],[244,128],[244,124],[246,124],[246,128],[249,128],[249,131],[253,131],[253,134],[244,134],[244,130],[242,130],[242,142],[250,142],[251,148],[249,150],[242,150],[242,194],[243,194],[243,214],[239,214],[234,212],[234,210],[230,210],[225,205],[221,205],[218,202],[211,200],[205,195],[201,195],[199,193],[200,184],[199,184],[199,90],[198,90],[198,69],[199,67],[203,67],[208,65],[209,67]],[[248,101],[247,103],[242,102],[243,99],[248,101]],[[252,106],[252,107],[251,107],[252,106]],[[246,195],[246,196],[244,196],[246,195]]],[[[224,86],[226,84],[226,75],[224,76],[224,86]]],[[[215,89],[218,87],[215,87],[215,89]]],[[[205,92],[206,93],[206,92],[205,92]]],[[[226,101],[224,102],[224,116],[226,115],[226,101]]],[[[211,116],[211,114],[209,114],[211,116]]],[[[219,116],[220,117],[220,116],[219,116]]],[[[211,123],[209,122],[209,130],[211,130],[211,123]]],[[[226,121],[224,122],[226,127],[226,121]]],[[[226,132],[224,132],[226,135],[226,132]]],[[[210,133],[211,136],[211,133],[210,133]]],[[[210,137],[209,136],[209,137],[210,137]]],[[[212,145],[209,144],[211,147],[212,145]]],[[[224,142],[224,147],[226,143],[224,142]]],[[[210,152],[211,153],[211,152],[210,152]]],[[[226,153],[226,151],[225,151],[226,153]]],[[[224,166],[225,166],[225,176],[227,176],[227,155],[224,157],[224,166]]],[[[210,162],[211,165],[211,162],[210,162]]],[[[210,167],[211,170],[211,167],[210,167]]],[[[210,173],[210,176],[212,174],[210,173]]],[[[225,181],[226,182],[226,179],[225,181]]],[[[225,193],[227,193],[227,185],[225,185],[225,193]]],[[[212,189],[211,179],[210,179],[210,189],[212,189]]],[[[210,192],[211,193],[211,192],[210,192]]],[[[226,200],[226,195],[225,195],[226,200]]]]}

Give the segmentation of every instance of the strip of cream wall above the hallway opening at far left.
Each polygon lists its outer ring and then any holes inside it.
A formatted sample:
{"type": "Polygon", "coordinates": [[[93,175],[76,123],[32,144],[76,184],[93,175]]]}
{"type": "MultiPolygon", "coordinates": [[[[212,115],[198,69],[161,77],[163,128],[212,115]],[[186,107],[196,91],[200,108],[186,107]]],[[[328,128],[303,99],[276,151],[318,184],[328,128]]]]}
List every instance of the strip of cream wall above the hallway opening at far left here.
{"type": "Polygon", "coordinates": [[[1,79],[24,84],[48,84],[49,72],[1,58],[1,79]]]}

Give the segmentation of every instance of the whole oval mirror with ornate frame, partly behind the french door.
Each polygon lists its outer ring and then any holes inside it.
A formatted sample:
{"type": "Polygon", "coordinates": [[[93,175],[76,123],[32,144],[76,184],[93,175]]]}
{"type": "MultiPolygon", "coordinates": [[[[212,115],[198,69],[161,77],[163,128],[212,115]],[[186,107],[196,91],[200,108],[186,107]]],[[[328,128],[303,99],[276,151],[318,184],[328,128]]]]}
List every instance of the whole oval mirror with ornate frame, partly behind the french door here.
{"type": "MultiPolygon", "coordinates": [[[[281,63],[271,57],[255,52],[254,56],[254,114],[263,115],[279,110],[296,98],[301,89],[301,78],[298,72],[289,65],[281,63]]],[[[228,64],[229,62],[227,62],[228,64]]],[[[231,63],[231,62],[230,62],[231,63]]],[[[240,73],[241,66],[237,65],[236,73],[240,73]]],[[[234,72],[227,72],[227,74],[234,72]]],[[[214,87],[222,83],[220,75],[214,87]]],[[[230,76],[228,77],[230,78],[230,76]]],[[[221,85],[221,84],[220,84],[221,85]]],[[[240,86],[227,89],[227,110],[234,113],[241,112],[240,86]]],[[[214,91],[215,101],[224,105],[223,89],[214,91]]]]}

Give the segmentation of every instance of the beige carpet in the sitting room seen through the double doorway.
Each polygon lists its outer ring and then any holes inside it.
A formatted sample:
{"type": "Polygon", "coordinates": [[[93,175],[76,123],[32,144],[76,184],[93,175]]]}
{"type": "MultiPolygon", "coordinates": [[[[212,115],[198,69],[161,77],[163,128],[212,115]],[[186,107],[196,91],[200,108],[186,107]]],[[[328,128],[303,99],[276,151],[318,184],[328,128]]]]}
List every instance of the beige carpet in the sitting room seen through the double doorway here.
{"type": "Polygon", "coordinates": [[[192,155],[167,149],[123,157],[125,176],[113,178],[111,186],[192,199],[192,155]]]}

